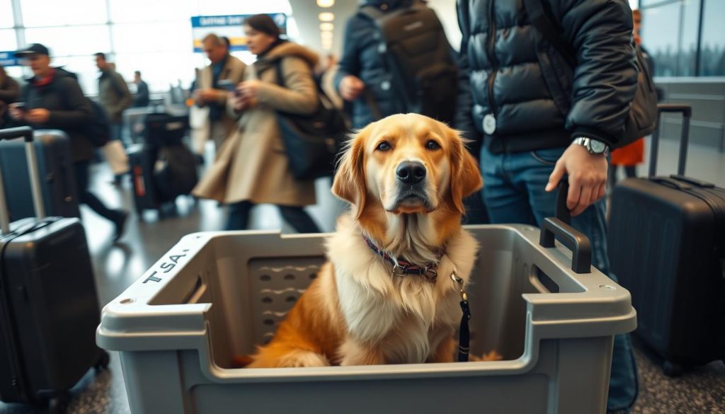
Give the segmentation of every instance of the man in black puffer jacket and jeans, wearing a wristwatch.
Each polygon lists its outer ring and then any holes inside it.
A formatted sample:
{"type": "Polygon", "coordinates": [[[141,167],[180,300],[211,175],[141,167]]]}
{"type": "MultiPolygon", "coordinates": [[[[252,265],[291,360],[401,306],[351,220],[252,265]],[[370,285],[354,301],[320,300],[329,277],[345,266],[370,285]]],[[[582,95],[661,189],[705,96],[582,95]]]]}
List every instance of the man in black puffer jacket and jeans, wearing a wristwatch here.
{"type": "MultiPolygon", "coordinates": [[[[492,223],[539,225],[555,215],[568,174],[572,225],[608,273],[608,149],[624,134],[637,88],[626,0],[538,0],[576,54],[571,67],[531,25],[526,0],[458,0],[460,96],[456,128],[483,142],[484,201],[492,223]],[[589,208],[587,208],[589,207],[589,208]]],[[[614,345],[608,410],[637,397],[628,336],[614,345]]]]}

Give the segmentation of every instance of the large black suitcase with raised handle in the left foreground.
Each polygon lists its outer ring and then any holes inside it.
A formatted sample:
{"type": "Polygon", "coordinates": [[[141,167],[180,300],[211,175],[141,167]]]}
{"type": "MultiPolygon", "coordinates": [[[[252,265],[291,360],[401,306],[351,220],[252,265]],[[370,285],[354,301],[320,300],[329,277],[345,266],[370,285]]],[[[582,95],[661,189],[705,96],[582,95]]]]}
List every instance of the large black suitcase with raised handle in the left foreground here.
{"type": "MultiPolygon", "coordinates": [[[[0,131],[0,139],[18,136],[35,160],[30,128],[0,131]]],[[[38,166],[29,167],[37,205],[38,166]]],[[[0,400],[64,413],[67,390],[88,368],[108,365],[96,347],[100,311],[86,233],[78,218],[42,212],[9,223],[4,194],[0,188],[0,400]]]]}

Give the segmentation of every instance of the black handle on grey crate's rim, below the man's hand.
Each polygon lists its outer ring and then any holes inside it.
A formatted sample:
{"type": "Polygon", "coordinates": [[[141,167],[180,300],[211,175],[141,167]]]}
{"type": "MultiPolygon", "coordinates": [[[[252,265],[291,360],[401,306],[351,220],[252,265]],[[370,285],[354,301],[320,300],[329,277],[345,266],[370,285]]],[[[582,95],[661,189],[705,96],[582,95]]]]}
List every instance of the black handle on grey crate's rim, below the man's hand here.
{"type": "Polygon", "coordinates": [[[589,239],[569,225],[570,214],[566,208],[566,194],[569,192],[568,178],[559,182],[559,194],[556,199],[557,217],[544,218],[542,221],[539,244],[542,247],[554,247],[555,239],[559,239],[564,246],[571,249],[571,270],[575,273],[590,273],[592,271],[592,244],[589,239]]]}

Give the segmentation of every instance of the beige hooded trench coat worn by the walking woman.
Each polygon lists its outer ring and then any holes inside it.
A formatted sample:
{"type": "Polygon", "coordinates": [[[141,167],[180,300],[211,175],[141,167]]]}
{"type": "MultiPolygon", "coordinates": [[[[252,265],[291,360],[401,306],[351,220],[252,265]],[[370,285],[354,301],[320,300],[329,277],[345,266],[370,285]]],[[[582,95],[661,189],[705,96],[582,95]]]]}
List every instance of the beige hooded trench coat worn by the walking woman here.
{"type": "Polygon", "coordinates": [[[241,113],[238,128],[194,189],[195,196],[225,203],[315,204],[315,182],[298,181],[291,173],[276,111],[315,112],[319,99],[312,67],[317,59],[310,49],[287,42],[247,68],[245,80],[262,81],[257,105],[241,113]],[[285,87],[277,83],[275,65],[280,59],[285,87]]]}

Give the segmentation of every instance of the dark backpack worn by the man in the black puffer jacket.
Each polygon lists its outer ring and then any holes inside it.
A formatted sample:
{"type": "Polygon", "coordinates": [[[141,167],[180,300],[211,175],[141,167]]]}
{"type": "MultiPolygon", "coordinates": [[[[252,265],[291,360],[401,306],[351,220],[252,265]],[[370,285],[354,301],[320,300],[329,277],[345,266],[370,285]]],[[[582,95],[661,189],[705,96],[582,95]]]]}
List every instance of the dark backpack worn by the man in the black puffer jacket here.
{"type": "MultiPolygon", "coordinates": [[[[576,51],[571,44],[560,35],[561,30],[557,28],[544,10],[542,0],[523,0],[526,12],[529,13],[531,25],[544,36],[544,39],[556,49],[569,66],[576,67],[576,51]]],[[[657,89],[655,80],[645,55],[639,47],[635,48],[637,63],[637,91],[632,99],[629,116],[624,124],[624,136],[617,141],[615,148],[621,148],[637,141],[643,136],[648,136],[657,128],[657,89]]]]}

